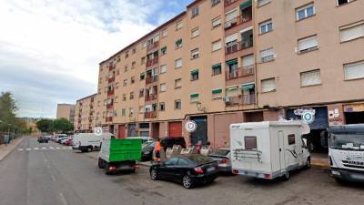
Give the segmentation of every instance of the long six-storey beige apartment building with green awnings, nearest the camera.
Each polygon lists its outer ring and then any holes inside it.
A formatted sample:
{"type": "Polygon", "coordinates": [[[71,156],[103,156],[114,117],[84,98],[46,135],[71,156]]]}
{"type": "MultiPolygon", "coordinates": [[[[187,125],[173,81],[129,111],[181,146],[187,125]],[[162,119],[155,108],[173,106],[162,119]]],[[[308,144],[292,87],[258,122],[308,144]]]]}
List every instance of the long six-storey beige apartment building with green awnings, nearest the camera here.
{"type": "Polygon", "coordinates": [[[320,140],[329,124],[362,120],[363,4],[194,1],[100,63],[96,125],[118,138],[183,136],[217,147],[228,145],[231,123],[309,109],[320,140]],[[191,119],[197,130],[187,133],[191,119]]]}

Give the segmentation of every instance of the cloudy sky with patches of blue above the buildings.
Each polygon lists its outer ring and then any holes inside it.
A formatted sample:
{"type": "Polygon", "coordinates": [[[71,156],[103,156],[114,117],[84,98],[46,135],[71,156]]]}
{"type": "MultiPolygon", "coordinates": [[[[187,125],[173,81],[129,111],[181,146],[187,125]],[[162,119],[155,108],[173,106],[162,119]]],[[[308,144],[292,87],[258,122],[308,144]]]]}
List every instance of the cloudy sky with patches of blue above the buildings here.
{"type": "Polygon", "coordinates": [[[98,64],[193,0],[0,0],[0,92],[18,117],[96,93],[98,64]]]}

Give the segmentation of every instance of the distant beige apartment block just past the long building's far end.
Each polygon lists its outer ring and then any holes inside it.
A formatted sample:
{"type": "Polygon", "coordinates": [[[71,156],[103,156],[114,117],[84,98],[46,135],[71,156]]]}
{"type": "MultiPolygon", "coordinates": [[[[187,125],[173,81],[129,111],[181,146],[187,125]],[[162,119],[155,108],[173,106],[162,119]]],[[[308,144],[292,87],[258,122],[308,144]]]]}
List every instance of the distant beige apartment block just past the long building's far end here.
{"type": "Polygon", "coordinates": [[[96,127],[95,101],[97,94],[83,97],[76,101],[75,131],[92,132],[96,127]]]}

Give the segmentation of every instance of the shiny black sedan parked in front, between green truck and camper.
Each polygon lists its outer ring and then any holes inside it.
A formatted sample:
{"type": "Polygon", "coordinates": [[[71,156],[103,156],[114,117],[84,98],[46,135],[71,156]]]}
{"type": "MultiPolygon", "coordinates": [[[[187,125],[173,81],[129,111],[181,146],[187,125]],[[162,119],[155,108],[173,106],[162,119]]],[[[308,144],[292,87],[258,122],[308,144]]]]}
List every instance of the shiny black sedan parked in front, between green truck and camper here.
{"type": "Polygon", "coordinates": [[[149,169],[153,180],[181,182],[186,189],[212,182],[218,177],[217,161],[198,154],[179,155],[149,169]]]}

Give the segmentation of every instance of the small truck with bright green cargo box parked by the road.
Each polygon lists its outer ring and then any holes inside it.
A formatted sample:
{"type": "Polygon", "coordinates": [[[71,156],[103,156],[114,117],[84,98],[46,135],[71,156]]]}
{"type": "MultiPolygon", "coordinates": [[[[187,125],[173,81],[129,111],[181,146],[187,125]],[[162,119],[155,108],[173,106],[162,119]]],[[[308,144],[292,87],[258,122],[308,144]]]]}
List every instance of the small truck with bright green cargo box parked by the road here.
{"type": "Polygon", "coordinates": [[[142,140],[111,138],[103,141],[98,158],[98,167],[106,169],[106,174],[116,170],[136,171],[136,161],[142,155],[142,140]]]}

